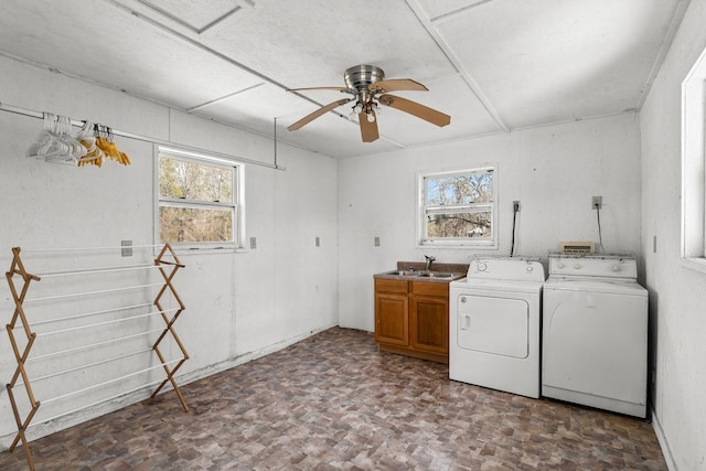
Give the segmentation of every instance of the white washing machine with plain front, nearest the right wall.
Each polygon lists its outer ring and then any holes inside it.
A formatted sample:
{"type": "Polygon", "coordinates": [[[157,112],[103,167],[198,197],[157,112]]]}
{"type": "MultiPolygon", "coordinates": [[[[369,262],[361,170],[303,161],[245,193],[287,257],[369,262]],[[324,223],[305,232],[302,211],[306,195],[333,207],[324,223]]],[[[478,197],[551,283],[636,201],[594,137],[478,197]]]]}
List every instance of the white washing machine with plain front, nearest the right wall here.
{"type": "Polygon", "coordinates": [[[549,253],[542,395],[644,418],[648,291],[632,254],[549,253]]]}

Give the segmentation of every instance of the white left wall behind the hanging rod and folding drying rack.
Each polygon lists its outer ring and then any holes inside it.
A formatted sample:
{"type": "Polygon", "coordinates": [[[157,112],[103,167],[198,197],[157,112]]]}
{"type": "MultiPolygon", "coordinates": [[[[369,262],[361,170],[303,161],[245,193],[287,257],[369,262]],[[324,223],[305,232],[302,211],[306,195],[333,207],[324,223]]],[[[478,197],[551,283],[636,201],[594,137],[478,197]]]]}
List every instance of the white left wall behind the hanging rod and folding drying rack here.
{"type": "MultiPolygon", "coordinates": [[[[3,104],[90,119],[122,131],[250,160],[272,161],[269,139],[4,57],[0,57],[0,90],[3,104]]],[[[39,119],[0,113],[0,189],[3,193],[0,266],[3,270],[10,267],[13,246],[106,247],[118,246],[122,239],[133,240],[135,245],[154,244],[152,146],[118,138],[118,147],[131,157],[132,165],[124,168],[108,162],[101,169],[78,169],[24,157],[41,129],[39,119]]],[[[180,371],[182,384],[338,323],[338,164],[327,157],[281,144],[278,161],[286,171],[245,167],[246,228],[248,237],[257,237],[256,249],[238,254],[181,255],[186,268],[176,276],[174,285],[186,310],[175,328],[191,356],[180,371]],[[314,246],[317,236],[320,247],[314,246]]],[[[139,251],[136,249],[136,259],[152,256],[139,251]]],[[[43,263],[42,257],[36,257],[33,264],[43,263]]],[[[72,261],[77,265],[88,266],[94,261],[90,255],[75,258],[81,258],[72,261]]],[[[28,269],[32,271],[32,267],[28,269]]],[[[50,281],[40,283],[35,286],[49,286],[50,281]]],[[[39,291],[30,291],[33,296],[35,292],[39,291]]],[[[26,312],[31,318],[32,309],[26,312]]],[[[0,286],[3,324],[11,314],[10,293],[3,281],[0,286]]],[[[42,338],[35,349],[47,345],[41,341],[42,338]]],[[[14,371],[12,358],[7,335],[2,333],[0,381],[3,384],[14,371]]],[[[58,363],[54,366],[61,367],[58,363]]],[[[40,390],[41,386],[36,385],[38,399],[45,399],[39,396],[40,390]]],[[[97,396],[97,393],[87,393],[81,403],[90,403],[97,396]]],[[[65,422],[31,428],[29,436],[51,432],[143,397],[141,394],[78,414],[65,422]]],[[[55,406],[55,411],[62,407],[55,406]]],[[[50,410],[49,405],[40,407],[35,421],[46,417],[50,410]]],[[[0,449],[4,449],[17,432],[4,388],[0,390],[0,449]]]]}

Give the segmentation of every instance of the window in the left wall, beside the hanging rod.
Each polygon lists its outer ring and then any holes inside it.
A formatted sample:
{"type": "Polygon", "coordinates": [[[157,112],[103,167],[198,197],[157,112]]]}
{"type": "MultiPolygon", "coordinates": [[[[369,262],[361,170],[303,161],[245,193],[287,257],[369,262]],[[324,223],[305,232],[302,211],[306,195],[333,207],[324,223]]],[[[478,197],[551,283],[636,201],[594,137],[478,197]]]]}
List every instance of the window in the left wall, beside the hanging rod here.
{"type": "Polygon", "coordinates": [[[160,243],[189,248],[239,246],[239,164],[160,148],[158,168],[160,243]]]}

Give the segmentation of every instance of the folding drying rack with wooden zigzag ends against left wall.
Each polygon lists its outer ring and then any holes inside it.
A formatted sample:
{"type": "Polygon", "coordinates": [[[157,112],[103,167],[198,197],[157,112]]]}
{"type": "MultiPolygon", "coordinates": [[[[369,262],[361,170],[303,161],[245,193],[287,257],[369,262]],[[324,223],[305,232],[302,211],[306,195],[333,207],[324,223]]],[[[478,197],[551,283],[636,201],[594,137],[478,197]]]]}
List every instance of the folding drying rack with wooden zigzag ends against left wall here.
{"type": "MultiPolygon", "coordinates": [[[[10,344],[12,346],[12,351],[14,353],[14,357],[17,361],[17,368],[14,371],[14,374],[12,375],[10,383],[8,383],[7,385],[7,390],[10,398],[10,404],[12,406],[14,420],[17,422],[18,432],[14,440],[12,441],[12,445],[9,448],[9,451],[13,451],[17,445],[21,441],[22,448],[24,450],[24,454],[26,457],[28,465],[31,470],[34,470],[34,460],[32,459],[32,454],[30,452],[28,437],[26,437],[26,430],[31,425],[45,424],[51,420],[57,419],[60,417],[68,416],[78,410],[93,407],[98,404],[106,403],[108,400],[117,399],[127,394],[136,393],[139,390],[143,390],[146,388],[151,388],[157,386],[150,396],[150,399],[151,399],[151,398],[154,398],[157,394],[159,394],[160,390],[162,390],[164,386],[167,386],[168,384],[171,384],[174,393],[176,394],[176,397],[179,398],[179,402],[181,403],[183,410],[185,413],[189,411],[189,407],[186,406],[184,397],[182,396],[181,390],[179,389],[179,386],[174,379],[174,374],[176,373],[176,371],[183,365],[183,363],[186,360],[189,360],[186,350],[184,349],[184,345],[182,344],[181,340],[179,339],[179,335],[176,334],[176,331],[174,330],[174,322],[176,321],[179,315],[182,313],[182,311],[185,309],[185,307],[181,298],[176,293],[176,290],[174,289],[174,286],[172,283],[172,280],[176,275],[178,270],[180,268],[184,268],[184,265],[179,260],[179,258],[176,257],[172,247],[169,244],[164,244],[163,246],[160,245],[160,246],[140,246],[140,247],[153,247],[153,248],[162,247],[162,248],[159,251],[158,256],[154,258],[153,264],[61,269],[57,271],[49,271],[46,274],[36,274],[36,275],[25,269],[24,263],[21,258],[22,250],[20,249],[20,247],[12,248],[12,263],[10,266],[10,270],[6,272],[6,277],[8,280],[8,285],[10,287],[12,301],[14,303],[14,312],[12,314],[10,323],[7,324],[7,331],[8,331],[8,335],[10,338],[10,344]],[[126,272],[131,272],[131,271],[140,272],[143,270],[150,270],[150,269],[158,270],[161,274],[161,278],[163,281],[156,282],[156,283],[148,283],[148,285],[139,285],[139,286],[109,287],[106,289],[89,290],[84,292],[71,292],[71,293],[62,292],[55,296],[41,297],[41,298],[34,298],[34,299],[28,299],[26,297],[28,292],[30,291],[30,286],[32,285],[32,282],[33,281],[39,282],[43,278],[69,277],[72,279],[76,279],[74,277],[78,277],[78,278],[90,277],[90,279],[94,282],[100,283],[101,282],[100,277],[107,276],[107,274],[117,272],[117,274],[120,274],[119,276],[124,276],[126,275],[126,272]],[[84,312],[79,314],[72,313],[71,315],[64,317],[64,318],[50,318],[45,320],[35,320],[34,322],[32,319],[32,314],[28,313],[28,311],[31,311],[32,309],[31,306],[34,301],[61,303],[62,300],[67,298],[83,298],[84,301],[86,299],[90,301],[89,299],[90,297],[95,297],[95,296],[105,297],[107,296],[106,293],[115,293],[115,292],[119,292],[120,296],[122,297],[121,299],[126,299],[126,298],[129,299],[130,298],[129,293],[135,290],[142,290],[142,291],[148,290],[151,292],[157,290],[157,295],[154,296],[153,300],[148,303],[142,303],[142,304],[132,303],[130,306],[120,306],[117,308],[111,307],[110,309],[101,309],[94,312],[84,312]],[[167,306],[168,302],[171,306],[174,306],[174,308],[164,309],[162,304],[167,306]],[[153,306],[156,310],[152,312],[135,314],[136,310],[141,311],[145,309],[151,309],[150,306],[153,306]],[[109,320],[104,319],[98,322],[82,323],[79,325],[74,325],[69,328],[66,328],[65,324],[61,325],[62,322],[66,322],[67,320],[71,321],[75,319],[87,319],[87,318],[89,319],[92,317],[98,317],[98,319],[100,319],[100,315],[106,315],[106,313],[108,312],[110,312],[111,313],[110,315],[113,315],[113,318],[109,320]],[[115,325],[120,322],[130,322],[136,320],[141,321],[142,319],[152,317],[152,315],[156,317],[157,319],[161,318],[161,320],[163,321],[163,324],[160,321],[156,321],[156,323],[158,323],[159,325],[157,329],[141,331],[137,334],[130,334],[122,338],[120,336],[111,338],[109,340],[105,340],[101,342],[92,342],[92,343],[88,343],[88,340],[87,340],[88,338],[90,338],[90,335],[86,335],[85,333],[82,334],[82,331],[84,331],[85,329],[103,329],[104,331],[106,330],[115,331],[116,330],[115,325]],[[53,331],[43,332],[39,334],[33,331],[34,325],[51,324],[53,322],[54,323],[57,322],[60,324],[60,327],[53,331]],[[57,366],[61,364],[61,362],[56,361],[55,362],[56,367],[54,367],[53,368],[54,371],[52,371],[50,374],[45,376],[31,377],[28,368],[28,362],[32,360],[36,360],[36,357],[31,356],[32,347],[35,346],[35,341],[39,338],[51,336],[57,333],[68,334],[68,336],[72,338],[72,341],[75,342],[75,344],[69,345],[68,347],[64,347],[64,350],[62,351],[42,354],[39,356],[46,358],[46,357],[51,357],[52,355],[72,355],[85,349],[103,349],[105,351],[105,350],[109,350],[108,347],[106,347],[106,345],[108,344],[111,344],[111,346],[114,346],[115,344],[120,344],[120,342],[122,342],[122,345],[127,345],[127,343],[129,343],[129,342],[126,342],[128,339],[131,339],[131,341],[133,341],[133,339],[139,335],[143,335],[143,338],[140,340],[140,343],[145,343],[147,347],[142,347],[141,352],[135,352],[135,351],[122,352],[117,356],[103,358],[99,361],[92,358],[90,363],[88,364],[72,366],[68,370],[65,370],[62,372],[57,371],[58,370],[57,366]],[[152,341],[151,338],[154,338],[156,340],[152,341]],[[167,342],[167,340],[169,340],[169,342],[167,342]],[[150,344],[151,346],[149,346],[150,344]],[[176,349],[174,349],[173,345],[176,345],[176,349]],[[173,350],[175,352],[175,356],[176,356],[175,358],[168,360],[168,356],[173,356],[173,355],[167,354],[169,353],[168,352],[169,350],[173,350]],[[147,354],[147,352],[149,351],[153,351],[157,354],[157,356],[159,357],[159,363],[148,365],[148,367],[145,367],[145,365],[141,365],[138,371],[130,371],[125,374],[121,374],[122,372],[120,372],[120,375],[118,377],[111,377],[107,381],[92,384],[86,387],[82,387],[79,389],[65,392],[60,394],[56,397],[45,399],[42,403],[38,400],[38,398],[34,395],[34,390],[32,388],[32,382],[39,382],[42,379],[46,379],[47,377],[60,377],[61,379],[61,375],[67,375],[72,372],[73,373],[82,372],[90,367],[100,367],[103,370],[107,370],[107,368],[104,368],[104,365],[109,364],[111,362],[124,361],[125,358],[138,353],[147,354]],[[163,379],[161,378],[153,379],[156,374],[152,374],[151,372],[157,371],[158,373],[160,370],[163,370],[167,377],[163,379]],[[82,393],[86,393],[88,390],[94,390],[97,388],[105,387],[107,385],[110,385],[113,387],[115,387],[115,385],[121,386],[124,384],[129,384],[128,379],[141,381],[142,377],[150,376],[150,375],[152,375],[152,377],[150,378],[151,381],[148,382],[147,384],[140,384],[139,386],[132,387],[129,390],[121,390],[119,394],[114,394],[107,398],[104,397],[100,400],[92,404],[82,404],[81,407],[78,408],[74,408],[71,410],[62,410],[62,413],[58,414],[57,416],[45,418],[39,424],[32,424],[32,420],[36,415],[41,404],[60,402],[68,397],[81,395],[82,393]],[[24,398],[21,393],[24,393],[26,398],[24,398]],[[22,405],[19,404],[19,399],[22,400],[22,405]]],[[[135,248],[139,248],[139,247],[135,247],[135,248]]],[[[81,248],[55,249],[55,250],[49,249],[49,250],[32,250],[32,251],[47,251],[54,255],[53,253],[56,253],[57,250],[103,250],[103,249],[115,249],[115,247],[87,248],[87,249],[81,249],[81,248]]],[[[125,249],[125,247],[118,248],[118,250],[120,249],[125,249]]],[[[29,250],[25,250],[25,251],[29,251],[29,250]]],[[[138,277],[135,277],[135,278],[138,278],[138,277]]],[[[107,277],[106,279],[109,279],[109,277],[107,277]]],[[[54,304],[52,304],[52,307],[53,306],[54,304]]],[[[124,363],[131,365],[132,362],[128,361],[124,363]]],[[[115,367],[115,370],[120,371],[120,368],[118,368],[117,366],[115,367]]]]}

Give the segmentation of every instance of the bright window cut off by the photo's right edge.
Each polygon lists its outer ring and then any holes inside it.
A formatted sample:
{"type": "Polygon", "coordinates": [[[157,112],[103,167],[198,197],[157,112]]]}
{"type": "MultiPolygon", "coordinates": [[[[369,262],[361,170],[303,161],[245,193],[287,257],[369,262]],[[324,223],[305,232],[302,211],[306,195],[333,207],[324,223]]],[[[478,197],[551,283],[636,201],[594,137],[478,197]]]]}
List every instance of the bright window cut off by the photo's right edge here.
{"type": "Polygon", "coordinates": [[[706,272],[706,51],[682,84],[682,261],[706,272]]]}

